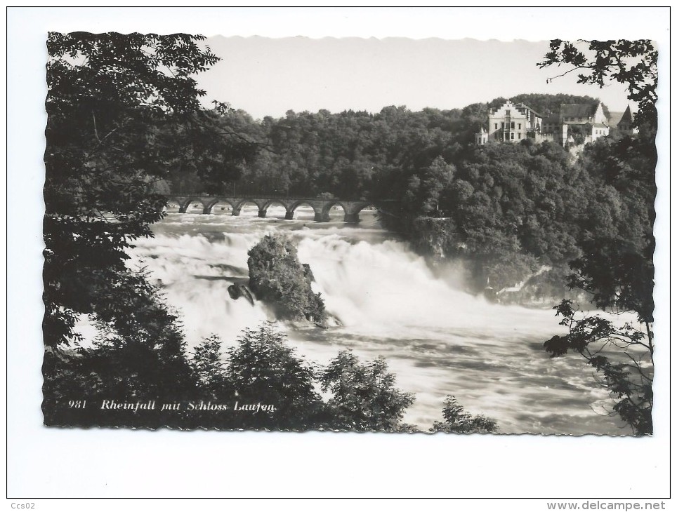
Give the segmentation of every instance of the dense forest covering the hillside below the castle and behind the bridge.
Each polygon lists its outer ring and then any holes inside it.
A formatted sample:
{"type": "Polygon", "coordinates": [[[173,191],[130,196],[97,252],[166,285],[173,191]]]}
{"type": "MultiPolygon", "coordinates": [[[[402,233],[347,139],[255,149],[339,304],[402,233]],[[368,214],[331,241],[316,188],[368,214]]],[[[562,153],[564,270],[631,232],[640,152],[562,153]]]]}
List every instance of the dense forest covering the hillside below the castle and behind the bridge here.
{"type": "MultiPolygon", "coordinates": [[[[562,103],[598,102],[565,94],[511,100],[546,114],[556,114],[562,103]]],[[[652,216],[651,155],[622,164],[632,170],[613,171],[642,177],[637,182],[604,168],[617,147],[629,144],[617,133],[579,158],[551,142],[475,146],[489,109],[505,101],[444,111],[289,111],[260,121],[217,105],[202,115],[239,151],[228,151],[228,159],[190,159],[190,165],[178,160],[156,186],[174,194],[365,199],[379,207],[384,226],[433,265],[462,262],[470,292],[522,304],[574,297],[564,278],[586,236],[642,241],[652,216]],[[501,292],[520,283],[518,292],[501,292]]],[[[650,129],[643,134],[652,137],[650,129]]]]}

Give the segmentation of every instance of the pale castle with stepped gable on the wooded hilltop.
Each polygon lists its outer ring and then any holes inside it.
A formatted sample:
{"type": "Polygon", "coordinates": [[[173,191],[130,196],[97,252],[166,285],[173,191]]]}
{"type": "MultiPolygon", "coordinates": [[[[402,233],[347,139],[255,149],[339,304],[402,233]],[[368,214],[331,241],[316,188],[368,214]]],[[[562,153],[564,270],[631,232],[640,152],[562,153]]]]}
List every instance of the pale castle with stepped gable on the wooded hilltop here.
{"type": "Polygon", "coordinates": [[[570,147],[607,137],[611,128],[616,128],[623,135],[633,135],[636,130],[632,121],[630,106],[623,114],[610,112],[609,119],[600,102],[595,105],[563,103],[558,114],[544,117],[524,103],[515,105],[508,100],[499,109],[489,110],[488,126],[482,126],[480,133],[475,134],[475,143],[481,146],[491,141],[531,139],[537,143],[550,140],[570,147]]]}

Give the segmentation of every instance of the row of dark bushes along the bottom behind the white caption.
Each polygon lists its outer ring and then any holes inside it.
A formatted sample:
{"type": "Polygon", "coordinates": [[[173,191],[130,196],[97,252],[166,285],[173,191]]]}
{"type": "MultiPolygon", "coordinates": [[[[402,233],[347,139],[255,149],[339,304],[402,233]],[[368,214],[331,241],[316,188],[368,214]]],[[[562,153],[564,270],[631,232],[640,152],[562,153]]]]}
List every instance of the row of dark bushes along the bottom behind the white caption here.
{"type": "MultiPolygon", "coordinates": [[[[156,297],[158,299],[159,297],[156,297]]],[[[176,319],[169,319],[169,327],[176,319]]],[[[111,334],[109,332],[109,334],[111,334]]],[[[178,357],[143,342],[102,337],[93,349],[48,349],[45,423],[184,429],[402,431],[414,401],[395,387],[383,358],[361,363],[343,351],[326,368],[296,355],[270,324],[245,330],[223,353],[217,337],[178,357]],[[327,398],[317,390],[322,387],[327,398]],[[86,396],[89,407],[69,407],[86,396]],[[119,397],[124,397],[120,399],[119,397]],[[153,410],[102,410],[103,400],[153,410]],[[178,407],[176,407],[178,404],[178,407]],[[163,405],[172,405],[162,410],[163,405]],[[257,407],[260,405],[260,407],[257,407]],[[252,407],[254,406],[254,407],[252,407]]]]}

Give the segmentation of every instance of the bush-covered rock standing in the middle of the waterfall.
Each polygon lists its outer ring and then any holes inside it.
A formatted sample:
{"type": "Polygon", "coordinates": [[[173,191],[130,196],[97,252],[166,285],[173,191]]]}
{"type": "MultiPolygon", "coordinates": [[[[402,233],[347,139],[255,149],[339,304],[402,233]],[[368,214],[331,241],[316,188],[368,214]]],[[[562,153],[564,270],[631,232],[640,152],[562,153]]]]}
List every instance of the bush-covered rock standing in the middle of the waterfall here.
{"type": "Polygon", "coordinates": [[[266,235],[248,254],[249,288],[258,299],[272,303],[278,318],[324,324],[324,302],[313,292],[313,274],[310,267],[298,261],[291,238],[266,235]]]}

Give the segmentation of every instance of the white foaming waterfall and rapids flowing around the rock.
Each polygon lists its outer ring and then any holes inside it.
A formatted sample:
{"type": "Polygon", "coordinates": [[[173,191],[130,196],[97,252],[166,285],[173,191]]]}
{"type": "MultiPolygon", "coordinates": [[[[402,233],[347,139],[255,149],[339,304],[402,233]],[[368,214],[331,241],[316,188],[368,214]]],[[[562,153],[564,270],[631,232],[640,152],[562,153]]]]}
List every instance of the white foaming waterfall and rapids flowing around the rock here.
{"type": "Polygon", "coordinates": [[[363,360],[384,356],[397,386],[416,394],[405,422],[427,431],[451,394],[469,412],[497,419],[504,433],[629,433],[600,414],[610,408],[607,393],[580,358],[548,358],[544,340],[563,332],[551,309],[490,304],[460,291],[453,271],[433,274],[374,212],[362,211],[357,226],[344,224],[342,211],[313,222],[310,208],[296,220],[284,220],[282,207],[267,218],[256,208],[239,217],[227,208],[215,213],[170,212],[155,238],[132,250],[133,264],[150,271],[180,312],[189,346],[212,334],[228,346],[244,328],[275,320],[261,302],[232,299],[228,287],[247,283],[249,248],[266,233],[288,231],[315,291],[341,322],[326,330],[280,324],[289,343],[320,364],[345,348],[363,360]]]}

